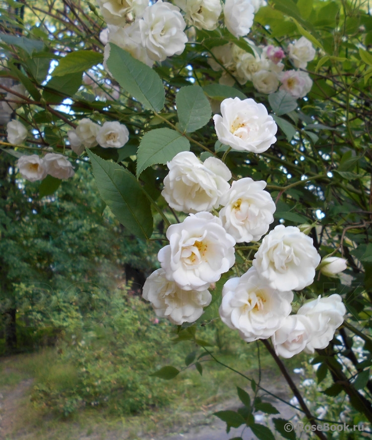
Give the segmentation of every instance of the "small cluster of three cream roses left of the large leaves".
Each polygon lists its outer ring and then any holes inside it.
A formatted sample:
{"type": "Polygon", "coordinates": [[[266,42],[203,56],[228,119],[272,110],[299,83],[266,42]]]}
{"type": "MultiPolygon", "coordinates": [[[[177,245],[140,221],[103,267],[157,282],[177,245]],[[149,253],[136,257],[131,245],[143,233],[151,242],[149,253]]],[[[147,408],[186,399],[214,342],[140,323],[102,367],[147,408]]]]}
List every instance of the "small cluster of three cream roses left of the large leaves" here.
{"type": "Polygon", "coordinates": [[[88,118],[79,121],[75,129],[67,132],[71,149],[79,156],[86,148],[122,148],[129,139],[129,131],[118,121],[106,121],[102,126],[88,118]]]}

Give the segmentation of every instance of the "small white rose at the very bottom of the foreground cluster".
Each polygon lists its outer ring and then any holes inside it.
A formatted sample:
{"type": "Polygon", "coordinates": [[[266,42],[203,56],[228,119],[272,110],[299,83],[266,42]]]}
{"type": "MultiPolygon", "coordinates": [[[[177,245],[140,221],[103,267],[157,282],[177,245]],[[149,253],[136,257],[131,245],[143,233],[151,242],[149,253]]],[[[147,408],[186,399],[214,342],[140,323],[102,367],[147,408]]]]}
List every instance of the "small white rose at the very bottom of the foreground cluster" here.
{"type": "Polygon", "coordinates": [[[272,336],[275,353],[282,358],[289,359],[302,352],[311,339],[312,330],[308,316],[303,314],[287,316],[272,336]]]}

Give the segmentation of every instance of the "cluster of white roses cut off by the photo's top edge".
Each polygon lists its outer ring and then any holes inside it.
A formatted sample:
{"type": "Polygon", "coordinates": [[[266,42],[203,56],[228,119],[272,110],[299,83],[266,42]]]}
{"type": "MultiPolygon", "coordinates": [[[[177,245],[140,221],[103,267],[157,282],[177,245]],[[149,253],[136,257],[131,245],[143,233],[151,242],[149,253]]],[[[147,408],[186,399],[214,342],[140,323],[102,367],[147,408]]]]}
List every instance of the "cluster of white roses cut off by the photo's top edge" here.
{"type": "Polygon", "coordinates": [[[213,30],[221,12],[226,28],[236,37],[247,35],[254,12],[264,0],[98,0],[108,29],[101,35],[106,44],[104,64],[110,54],[107,43],[114,43],[150,67],[185,50],[186,23],[197,29],[213,30]],[[183,14],[181,13],[183,11],[183,14]],[[186,21],[185,21],[186,20],[186,21]]]}

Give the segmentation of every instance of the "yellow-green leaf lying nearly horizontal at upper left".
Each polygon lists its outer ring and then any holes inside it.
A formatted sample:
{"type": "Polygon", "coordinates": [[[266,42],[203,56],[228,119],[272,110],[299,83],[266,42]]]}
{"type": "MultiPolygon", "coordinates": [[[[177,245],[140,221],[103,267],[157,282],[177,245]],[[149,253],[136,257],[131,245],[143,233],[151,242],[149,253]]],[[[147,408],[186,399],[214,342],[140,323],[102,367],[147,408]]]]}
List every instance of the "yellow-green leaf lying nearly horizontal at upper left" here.
{"type": "Polygon", "coordinates": [[[67,73],[84,72],[103,62],[103,55],[94,51],[75,51],[67,54],[58,62],[52,76],[64,76],[67,73]]]}

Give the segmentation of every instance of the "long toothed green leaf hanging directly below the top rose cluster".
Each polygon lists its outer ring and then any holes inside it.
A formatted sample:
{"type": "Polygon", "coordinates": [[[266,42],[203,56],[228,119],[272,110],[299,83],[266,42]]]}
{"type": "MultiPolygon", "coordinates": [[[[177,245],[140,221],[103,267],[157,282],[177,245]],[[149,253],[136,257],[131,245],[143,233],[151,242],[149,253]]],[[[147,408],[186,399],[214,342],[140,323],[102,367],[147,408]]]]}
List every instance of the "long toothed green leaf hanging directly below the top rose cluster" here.
{"type": "Polygon", "coordinates": [[[112,43],[107,66],[119,84],[145,108],[159,112],[164,107],[163,83],[151,67],[112,43]]]}

